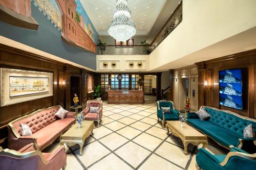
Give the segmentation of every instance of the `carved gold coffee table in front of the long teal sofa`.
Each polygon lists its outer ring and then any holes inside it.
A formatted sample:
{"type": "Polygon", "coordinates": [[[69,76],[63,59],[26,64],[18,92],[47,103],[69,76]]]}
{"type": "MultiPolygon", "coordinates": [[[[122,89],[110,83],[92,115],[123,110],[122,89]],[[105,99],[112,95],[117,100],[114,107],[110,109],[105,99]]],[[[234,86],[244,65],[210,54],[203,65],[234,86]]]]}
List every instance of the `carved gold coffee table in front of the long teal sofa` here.
{"type": "Polygon", "coordinates": [[[203,148],[208,145],[207,137],[198,132],[193,127],[183,123],[183,127],[181,127],[181,122],[179,120],[176,121],[166,121],[167,135],[169,131],[172,132],[175,136],[179,137],[184,144],[184,154],[187,154],[187,144],[191,143],[194,145],[203,144],[203,148]]]}

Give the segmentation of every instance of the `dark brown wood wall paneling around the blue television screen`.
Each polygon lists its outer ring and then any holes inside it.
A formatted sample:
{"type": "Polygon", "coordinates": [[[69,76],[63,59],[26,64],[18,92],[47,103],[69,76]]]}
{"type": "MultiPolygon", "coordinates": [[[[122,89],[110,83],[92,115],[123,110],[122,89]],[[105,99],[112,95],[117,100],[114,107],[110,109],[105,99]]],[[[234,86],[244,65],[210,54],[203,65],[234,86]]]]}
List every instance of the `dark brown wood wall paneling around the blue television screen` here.
{"type": "Polygon", "coordinates": [[[211,106],[219,109],[256,118],[256,49],[232,54],[208,61],[196,63],[199,71],[199,106],[211,106]],[[243,110],[219,105],[219,70],[243,68],[243,110]],[[211,72],[211,74],[209,74],[211,72]],[[210,89],[206,89],[204,81],[211,81],[210,89]]]}

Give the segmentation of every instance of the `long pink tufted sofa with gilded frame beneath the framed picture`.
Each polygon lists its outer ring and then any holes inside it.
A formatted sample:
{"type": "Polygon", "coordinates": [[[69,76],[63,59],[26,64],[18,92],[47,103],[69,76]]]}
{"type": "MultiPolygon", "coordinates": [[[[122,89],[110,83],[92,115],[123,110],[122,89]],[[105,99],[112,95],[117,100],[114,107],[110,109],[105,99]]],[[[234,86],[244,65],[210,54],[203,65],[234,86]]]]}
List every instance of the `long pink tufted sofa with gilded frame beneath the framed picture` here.
{"type": "Polygon", "coordinates": [[[54,114],[61,106],[52,106],[37,110],[8,124],[8,148],[18,151],[29,143],[34,143],[36,150],[43,150],[75,123],[74,112],[69,112],[60,119],[54,114]],[[31,136],[22,136],[20,124],[27,124],[31,136]]]}

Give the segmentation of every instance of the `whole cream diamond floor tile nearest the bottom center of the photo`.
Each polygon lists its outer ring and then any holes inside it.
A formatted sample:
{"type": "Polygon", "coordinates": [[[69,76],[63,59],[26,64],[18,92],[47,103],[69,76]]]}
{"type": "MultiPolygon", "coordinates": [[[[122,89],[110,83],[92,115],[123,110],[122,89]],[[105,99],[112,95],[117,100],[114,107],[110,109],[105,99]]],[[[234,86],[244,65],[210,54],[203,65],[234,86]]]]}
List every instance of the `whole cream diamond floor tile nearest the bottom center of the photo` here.
{"type": "Polygon", "coordinates": [[[137,167],[151,152],[130,141],[115,153],[133,167],[137,167]]]}

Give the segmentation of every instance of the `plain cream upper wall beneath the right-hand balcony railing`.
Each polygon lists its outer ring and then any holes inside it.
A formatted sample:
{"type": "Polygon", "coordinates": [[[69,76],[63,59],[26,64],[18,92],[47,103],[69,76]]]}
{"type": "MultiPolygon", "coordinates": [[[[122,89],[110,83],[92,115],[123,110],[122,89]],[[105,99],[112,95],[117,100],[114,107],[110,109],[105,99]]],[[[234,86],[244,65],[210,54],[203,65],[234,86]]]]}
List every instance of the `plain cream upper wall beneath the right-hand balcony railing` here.
{"type": "Polygon", "coordinates": [[[255,0],[183,0],[182,3],[183,20],[150,54],[150,70],[256,26],[255,0]]]}

